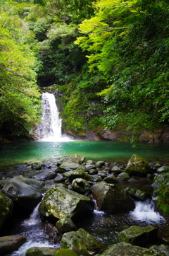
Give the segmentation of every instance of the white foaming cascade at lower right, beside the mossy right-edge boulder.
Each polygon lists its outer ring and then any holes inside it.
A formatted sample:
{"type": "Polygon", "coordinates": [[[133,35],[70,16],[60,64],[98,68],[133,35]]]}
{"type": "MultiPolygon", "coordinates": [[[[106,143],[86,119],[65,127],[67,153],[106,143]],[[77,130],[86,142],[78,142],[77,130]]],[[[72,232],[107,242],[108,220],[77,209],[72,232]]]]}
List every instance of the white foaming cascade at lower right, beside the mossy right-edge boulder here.
{"type": "Polygon", "coordinates": [[[147,223],[165,222],[165,219],[155,211],[154,202],[151,200],[135,202],[135,209],[130,211],[130,216],[137,221],[146,221],[147,223]]]}

